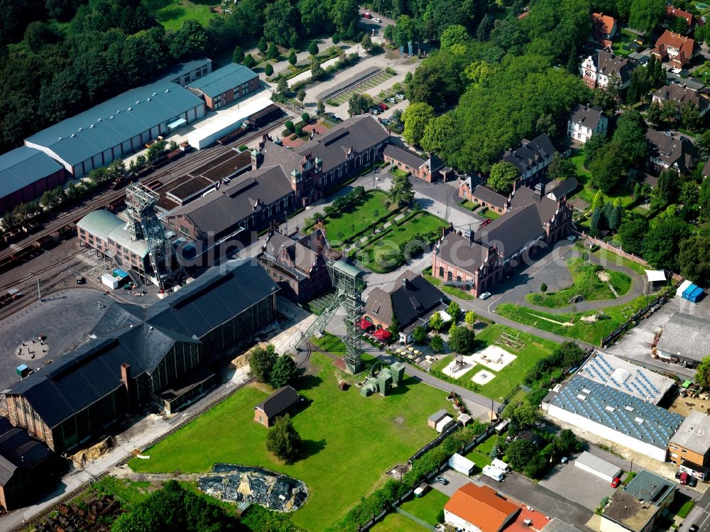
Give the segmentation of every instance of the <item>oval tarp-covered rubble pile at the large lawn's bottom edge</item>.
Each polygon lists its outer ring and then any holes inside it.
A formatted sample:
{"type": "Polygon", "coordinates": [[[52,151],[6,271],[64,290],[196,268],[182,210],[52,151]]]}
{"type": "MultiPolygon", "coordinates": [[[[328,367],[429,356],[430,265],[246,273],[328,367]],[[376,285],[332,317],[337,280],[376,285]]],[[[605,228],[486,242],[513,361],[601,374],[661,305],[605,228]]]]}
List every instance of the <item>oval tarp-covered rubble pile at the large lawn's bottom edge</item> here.
{"type": "Polygon", "coordinates": [[[251,502],[277,511],[295,511],[308,497],[308,489],[300,480],[243,465],[215,464],[212,474],[200,477],[197,486],[223,501],[251,502]]]}

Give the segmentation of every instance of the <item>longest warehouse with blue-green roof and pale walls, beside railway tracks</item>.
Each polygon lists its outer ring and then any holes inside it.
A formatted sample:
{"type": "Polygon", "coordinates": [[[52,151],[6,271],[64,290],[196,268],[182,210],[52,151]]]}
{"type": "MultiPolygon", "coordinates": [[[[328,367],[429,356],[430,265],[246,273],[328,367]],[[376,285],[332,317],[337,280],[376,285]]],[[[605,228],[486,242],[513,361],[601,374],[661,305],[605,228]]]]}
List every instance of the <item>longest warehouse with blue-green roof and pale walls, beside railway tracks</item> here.
{"type": "Polygon", "coordinates": [[[74,177],[145,148],[146,143],[202,118],[204,100],[180,85],[131,89],[25,139],[74,177]]]}

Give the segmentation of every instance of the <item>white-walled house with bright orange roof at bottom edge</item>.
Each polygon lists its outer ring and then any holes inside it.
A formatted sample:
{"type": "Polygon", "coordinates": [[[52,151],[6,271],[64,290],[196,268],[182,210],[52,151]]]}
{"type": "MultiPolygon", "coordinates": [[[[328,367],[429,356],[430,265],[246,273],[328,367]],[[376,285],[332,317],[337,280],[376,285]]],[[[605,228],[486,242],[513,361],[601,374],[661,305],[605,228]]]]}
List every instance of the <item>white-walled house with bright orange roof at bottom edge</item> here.
{"type": "Polygon", "coordinates": [[[464,484],[444,504],[444,523],[464,532],[501,532],[520,506],[488,486],[464,484]]]}

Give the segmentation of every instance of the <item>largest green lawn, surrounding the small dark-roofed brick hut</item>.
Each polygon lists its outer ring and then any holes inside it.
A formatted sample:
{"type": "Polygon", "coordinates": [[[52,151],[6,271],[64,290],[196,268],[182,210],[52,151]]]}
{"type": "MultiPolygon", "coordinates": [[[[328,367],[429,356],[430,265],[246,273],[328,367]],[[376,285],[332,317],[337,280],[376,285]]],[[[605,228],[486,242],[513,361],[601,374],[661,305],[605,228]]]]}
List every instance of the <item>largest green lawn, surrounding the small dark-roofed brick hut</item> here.
{"type": "Polygon", "coordinates": [[[131,460],[138,472],[202,472],[214,462],[261,465],[303,480],[310,495],[293,522],[322,531],[383,480],[383,473],[405,462],[436,433],[427,426],[432,412],[446,408],[446,392],[412,378],[388,397],[362,397],[337,380],[346,377],[320,353],[310,359],[317,374],[300,389],[312,401],[293,423],[305,441],[305,457],[285,465],[266,452],[267,429],[253,421],[253,406],[267,392],[249,385],[148,448],[150,460],[131,460]]]}

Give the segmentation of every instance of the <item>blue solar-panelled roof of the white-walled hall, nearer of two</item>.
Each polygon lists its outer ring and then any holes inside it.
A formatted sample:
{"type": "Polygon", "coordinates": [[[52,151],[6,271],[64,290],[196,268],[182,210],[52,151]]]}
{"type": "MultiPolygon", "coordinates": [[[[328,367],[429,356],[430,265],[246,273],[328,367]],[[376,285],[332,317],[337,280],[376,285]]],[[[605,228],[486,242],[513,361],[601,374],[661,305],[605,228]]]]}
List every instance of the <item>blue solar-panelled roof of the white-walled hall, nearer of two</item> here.
{"type": "Polygon", "coordinates": [[[579,375],[572,377],[550,404],[660,448],[667,447],[683,422],[679,414],[579,375]]]}

